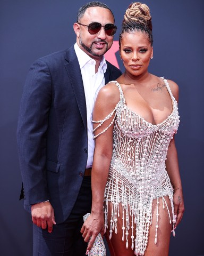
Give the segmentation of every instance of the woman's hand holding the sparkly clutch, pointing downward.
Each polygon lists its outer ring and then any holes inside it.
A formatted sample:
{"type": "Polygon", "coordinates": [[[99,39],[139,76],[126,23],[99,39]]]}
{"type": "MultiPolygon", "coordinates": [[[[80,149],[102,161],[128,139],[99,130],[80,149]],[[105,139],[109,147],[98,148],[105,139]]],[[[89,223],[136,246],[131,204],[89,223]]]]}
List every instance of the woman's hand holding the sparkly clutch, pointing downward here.
{"type": "Polygon", "coordinates": [[[104,236],[104,213],[91,213],[87,220],[83,223],[81,233],[85,242],[89,242],[86,255],[91,250],[97,235],[100,233],[104,236]],[[90,239],[90,241],[89,241],[90,239]]]}

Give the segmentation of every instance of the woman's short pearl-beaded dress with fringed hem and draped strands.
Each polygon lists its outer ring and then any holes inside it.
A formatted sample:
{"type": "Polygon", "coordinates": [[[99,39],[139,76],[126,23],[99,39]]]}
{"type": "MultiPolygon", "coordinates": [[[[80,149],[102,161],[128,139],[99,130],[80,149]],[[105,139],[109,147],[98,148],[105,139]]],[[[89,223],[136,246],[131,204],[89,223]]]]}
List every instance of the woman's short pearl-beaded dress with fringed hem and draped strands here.
{"type": "Polygon", "coordinates": [[[179,127],[179,113],[177,102],[166,79],[164,83],[171,96],[173,110],[165,121],[156,125],[148,123],[130,110],[126,106],[120,84],[116,81],[112,82],[120,91],[120,101],[103,121],[93,121],[99,123],[97,129],[114,116],[113,122],[103,132],[115,121],[113,155],[104,197],[105,229],[109,230],[111,239],[113,232],[117,234],[117,221],[120,218],[122,241],[126,243],[127,248],[131,246],[134,249],[135,255],[143,255],[148,243],[154,199],[157,198],[155,244],[160,197],[163,208],[167,208],[169,222],[173,222],[174,233],[175,220],[171,219],[171,215],[174,218],[173,187],[166,171],[165,161],[169,142],[179,127]],[[168,209],[165,196],[169,197],[171,209],[168,209]],[[108,202],[111,202],[111,210],[108,208],[108,202]],[[120,213],[119,207],[122,209],[120,213]],[[109,223],[108,219],[111,219],[109,223]]]}

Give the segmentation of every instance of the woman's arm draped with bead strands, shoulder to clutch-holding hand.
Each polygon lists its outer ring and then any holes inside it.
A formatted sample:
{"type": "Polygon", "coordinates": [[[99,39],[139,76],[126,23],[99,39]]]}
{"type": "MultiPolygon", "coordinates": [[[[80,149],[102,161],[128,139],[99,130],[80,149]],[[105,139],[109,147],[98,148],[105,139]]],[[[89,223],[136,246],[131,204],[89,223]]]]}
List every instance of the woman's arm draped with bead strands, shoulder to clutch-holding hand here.
{"type": "MultiPolygon", "coordinates": [[[[102,121],[105,119],[105,117],[113,112],[118,101],[120,101],[120,93],[115,84],[111,83],[104,86],[99,91],[95,102],[93,113],[94,121],[102,121]]],[[[103,124],[99,125],[100,123],[94,123],[94,129],[98,126],[95,130],[95,136],[102,133],[98,135],[95,140],[94,161],[91,171],[91,215],[87,218],[86,222],[84,222],[81,229],[85,242],[88,242],[91,236],[87,253],[90,251],[96,236],[99,233],[101,233],[102,236],[104,235],[104,191],[113,151],[114,116],[115,111],[103,124]]]]}

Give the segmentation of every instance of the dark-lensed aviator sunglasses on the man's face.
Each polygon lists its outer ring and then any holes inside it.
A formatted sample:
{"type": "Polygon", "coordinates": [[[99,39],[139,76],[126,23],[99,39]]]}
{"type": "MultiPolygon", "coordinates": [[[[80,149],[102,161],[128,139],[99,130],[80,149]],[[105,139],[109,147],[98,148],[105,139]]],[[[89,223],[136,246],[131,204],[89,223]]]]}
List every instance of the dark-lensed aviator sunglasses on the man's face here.
{"type": "Polygon", "coordinates": [[[101,27],[104,27],[105,33],[108,36],[113,36],[116,33],[116,30],[117,30],[117,27],[114,24],[111,24],[111,23],[106,24],[105,26],[102,26],[98,22],[92,22],[89,25],[84,25],[84,24],[81,24],[79,22],[78,22],[78,24],[88,27],[89,34],[91,34],[91,35],[97,34],[100,31],[101,27]]]}

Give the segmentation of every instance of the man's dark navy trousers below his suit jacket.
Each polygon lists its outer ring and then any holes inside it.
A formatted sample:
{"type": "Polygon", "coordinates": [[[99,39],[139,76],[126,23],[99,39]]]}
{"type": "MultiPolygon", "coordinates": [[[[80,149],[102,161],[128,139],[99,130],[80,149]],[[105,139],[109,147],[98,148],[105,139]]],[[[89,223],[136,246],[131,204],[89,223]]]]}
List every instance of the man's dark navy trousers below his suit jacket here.
{"type": "Polygon", "coordinates": [[[48,233],[33,225],[33,256],[85,256],[87,243],[80,233],[83,215],[91,212],[91,177],[84,177],[73,210],[63,223],[48,233]]]}

